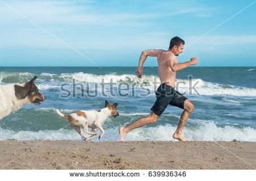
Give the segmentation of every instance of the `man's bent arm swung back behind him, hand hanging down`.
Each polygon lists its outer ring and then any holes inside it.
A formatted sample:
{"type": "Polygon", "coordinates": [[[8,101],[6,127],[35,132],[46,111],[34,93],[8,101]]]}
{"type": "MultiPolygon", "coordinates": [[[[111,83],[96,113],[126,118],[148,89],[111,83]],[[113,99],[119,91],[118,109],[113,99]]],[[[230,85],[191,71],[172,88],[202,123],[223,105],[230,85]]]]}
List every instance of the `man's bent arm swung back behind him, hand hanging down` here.
{"type": "Polygon", "coordinates": [[[141,56],[139,57],[139,65],[138,65],[138,69],[136,72],[138,78],[142,77],[142,68],[143,68],[143,64],[144,64],[147,56],[157,57],[163,51],[164,50],[160,50],[160,49],[150,49],[150,50],[142,51],[141,56]]]}

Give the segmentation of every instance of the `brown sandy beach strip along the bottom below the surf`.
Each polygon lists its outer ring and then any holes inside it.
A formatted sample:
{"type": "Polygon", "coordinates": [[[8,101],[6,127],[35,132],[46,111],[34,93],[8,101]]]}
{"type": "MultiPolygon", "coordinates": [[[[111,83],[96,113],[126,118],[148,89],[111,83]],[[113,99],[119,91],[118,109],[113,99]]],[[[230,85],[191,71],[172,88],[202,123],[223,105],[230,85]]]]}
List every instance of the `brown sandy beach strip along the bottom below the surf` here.
{"type": "Polygon", "coordinates": [[[0,169],[255,169],[256,142],[0,141],[0,169]]]}

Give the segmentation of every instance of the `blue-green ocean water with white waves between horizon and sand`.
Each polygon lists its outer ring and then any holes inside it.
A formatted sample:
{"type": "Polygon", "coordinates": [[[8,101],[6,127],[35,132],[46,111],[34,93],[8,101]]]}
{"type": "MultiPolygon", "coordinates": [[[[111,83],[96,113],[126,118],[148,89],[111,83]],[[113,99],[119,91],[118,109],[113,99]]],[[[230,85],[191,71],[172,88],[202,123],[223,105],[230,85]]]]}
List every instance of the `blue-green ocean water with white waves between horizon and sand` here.
{"type": "MultiPolygon", "coordinates": [[[[0,84],[27,82],[46,96],[40,106],[26,105],[0,121],[0,139],[81,140],[65,119],[73,110],[100,110],[105,100],[118,103],[119,117],[109,117],[102,141],[118,141],[118,127],[150,113],[159,86],[158,68],[145,67],[0,67],[0,84]]],[[[176,89],[195,106],[183,129],[187,140],[256,141],[256,68],[191,67],[176,73],[176,89]],[[189,89],[190,87],[190,89],[189,89]]],[[[126,140],[174,141],[183,110],[168,106],[155,124],[135,129],[126,140]]],[[[100,133],[98,131],[98,133],[100,133]]],[[[98,134],[99,135],[99,134],[98,134]]],[[[98,141],[95,137],[92,141],[98,141]]]]}

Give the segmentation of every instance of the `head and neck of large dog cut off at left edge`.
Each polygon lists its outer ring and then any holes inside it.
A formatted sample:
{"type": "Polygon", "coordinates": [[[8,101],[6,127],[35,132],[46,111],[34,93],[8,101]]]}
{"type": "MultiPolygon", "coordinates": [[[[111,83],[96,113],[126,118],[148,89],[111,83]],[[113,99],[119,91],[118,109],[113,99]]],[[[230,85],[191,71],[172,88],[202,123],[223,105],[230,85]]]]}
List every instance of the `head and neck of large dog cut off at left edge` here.
{"type": "Polygon", "coordinates": [[[35,86],[35,79],[36,76],[26,83],[0,85],[0,120],[25,104],[39,105],[46,99],[35,86]]]}

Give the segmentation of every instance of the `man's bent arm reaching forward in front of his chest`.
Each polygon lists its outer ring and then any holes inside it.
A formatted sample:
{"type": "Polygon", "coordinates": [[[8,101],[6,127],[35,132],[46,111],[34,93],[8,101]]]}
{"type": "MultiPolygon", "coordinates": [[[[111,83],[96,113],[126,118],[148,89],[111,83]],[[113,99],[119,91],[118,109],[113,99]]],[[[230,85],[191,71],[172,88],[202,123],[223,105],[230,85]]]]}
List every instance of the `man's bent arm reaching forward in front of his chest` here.
{"type": "Polygon", "coordinates": [[[172,56],[168,59],[167,63],[168,63],[168,66],[170,66],[171,70],[176,72],[176,71],[183,70],[183,69],[187,68],[188,66],[196,65],[197,64],[197,58],[192,57],[190,59],[190,61],[179,64],[179,63],[177,63],[176,58],[174,56],[172,56]]]}

